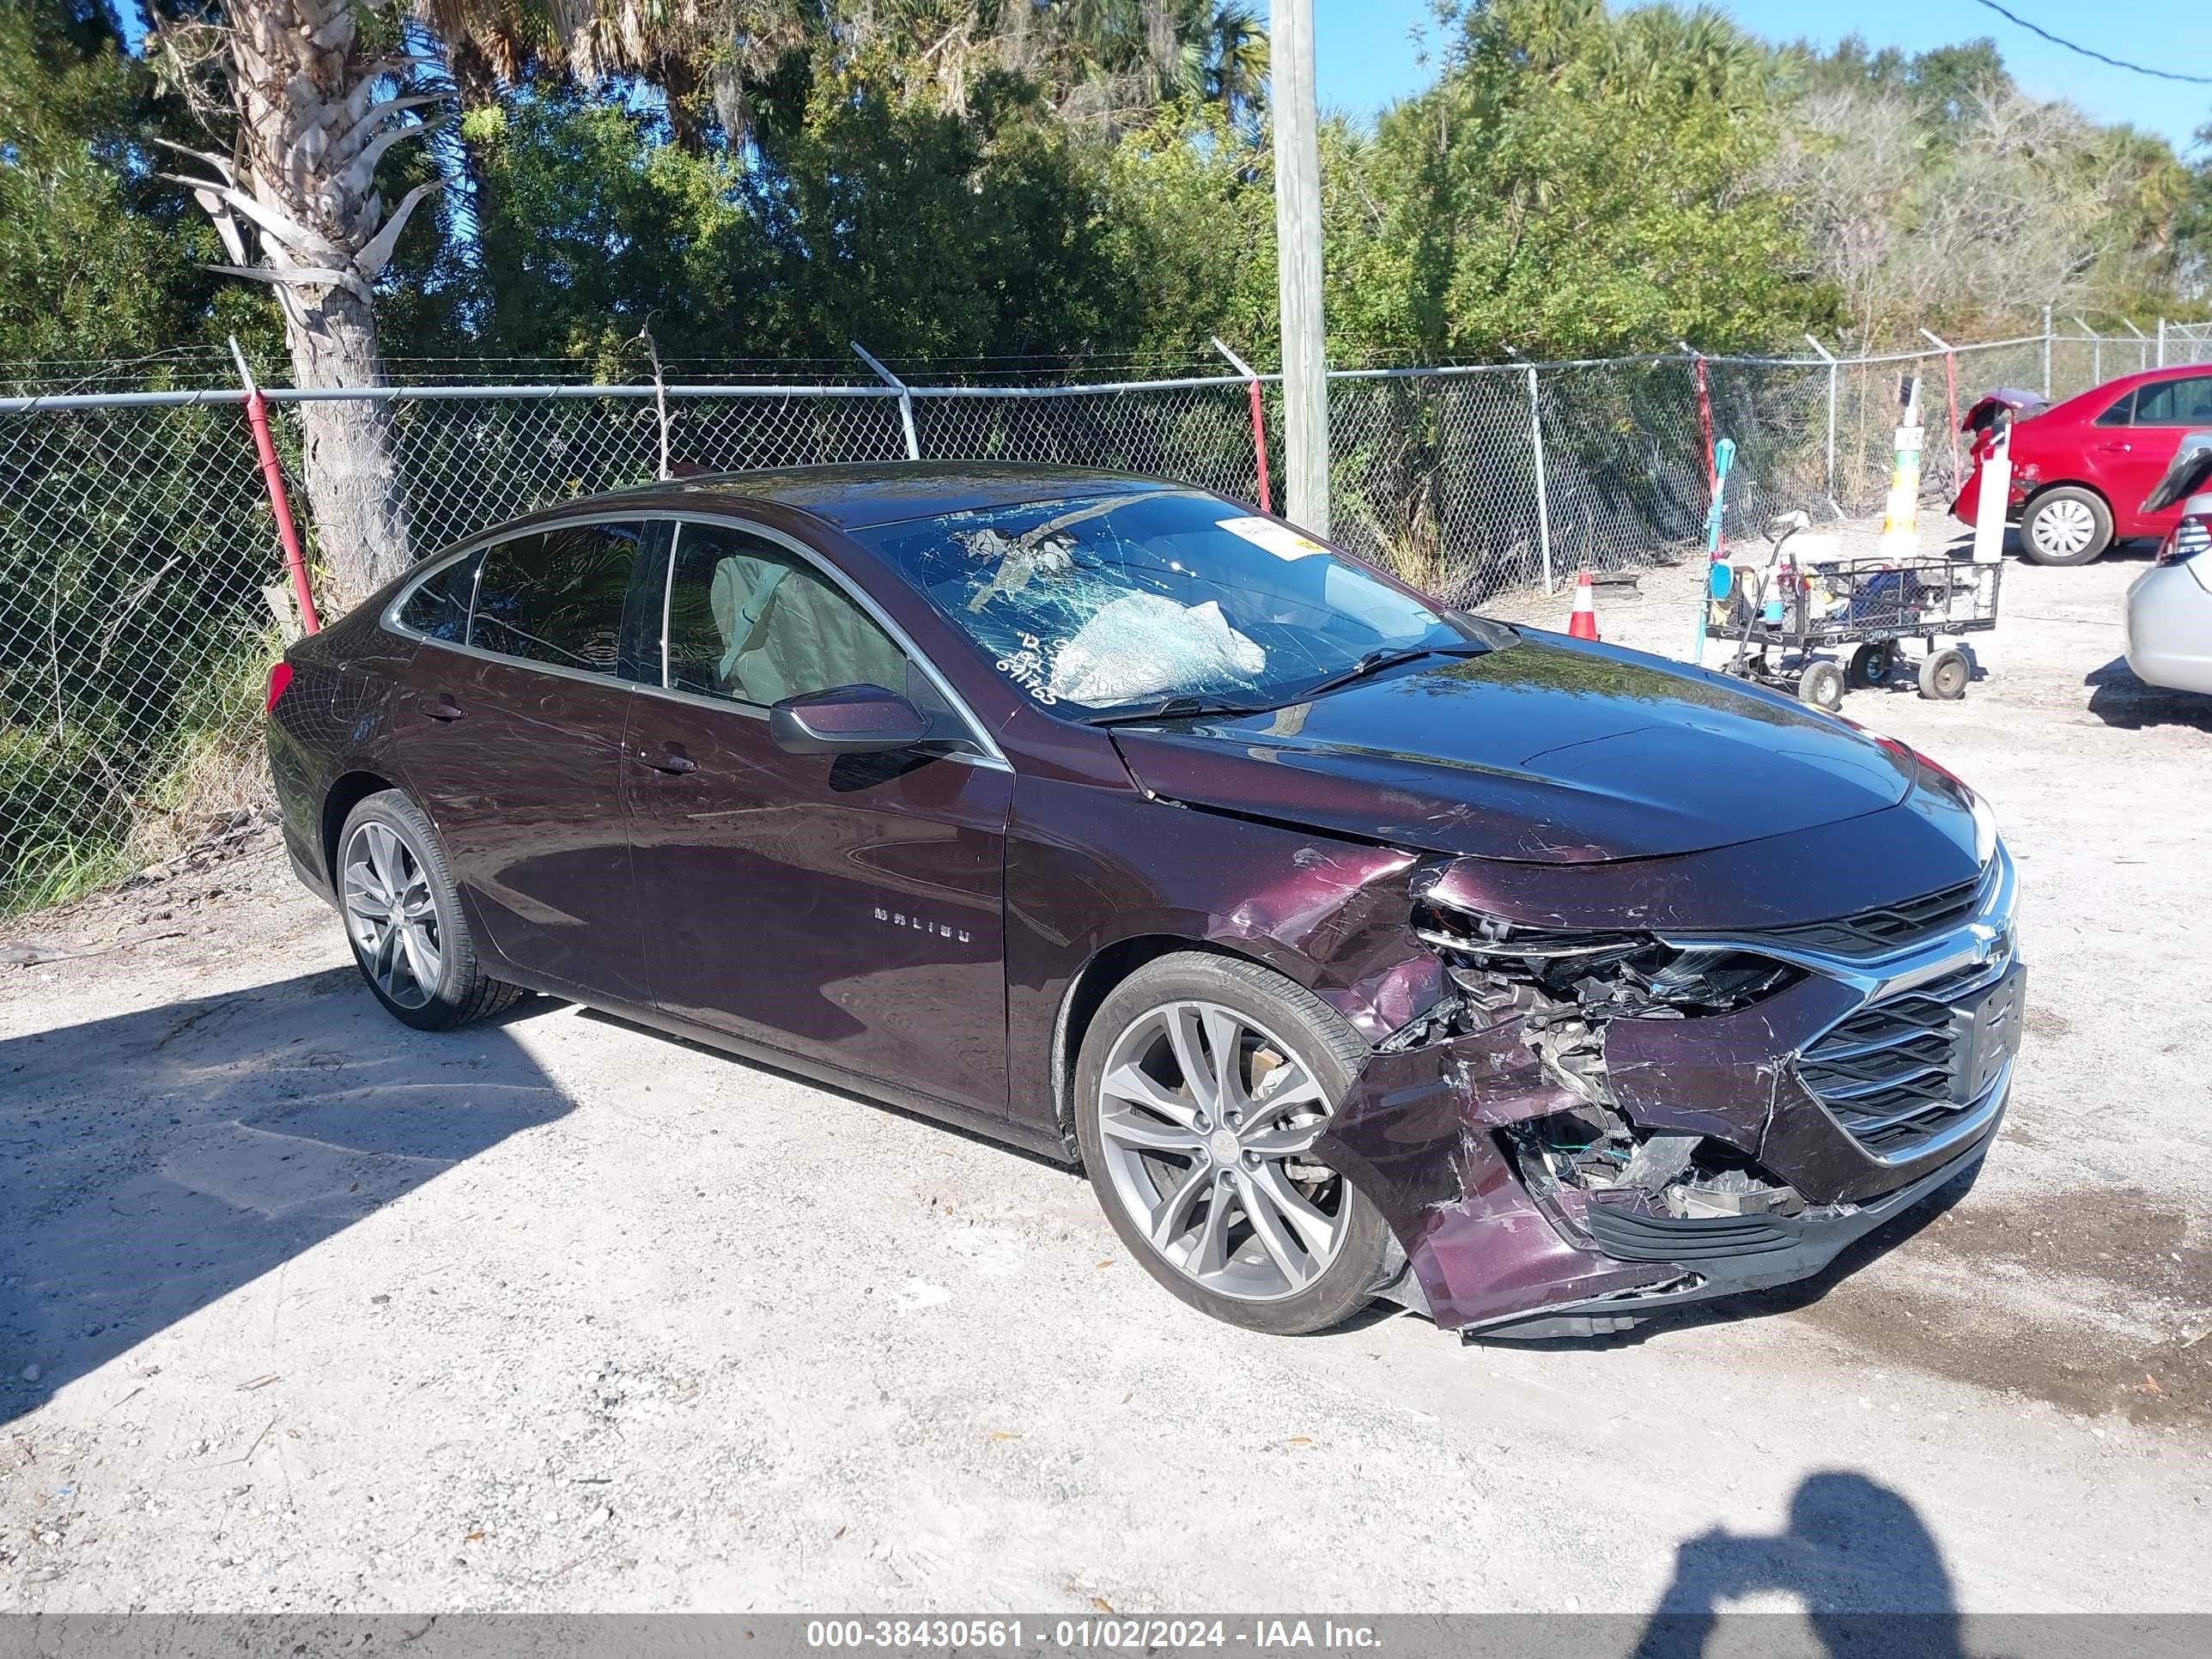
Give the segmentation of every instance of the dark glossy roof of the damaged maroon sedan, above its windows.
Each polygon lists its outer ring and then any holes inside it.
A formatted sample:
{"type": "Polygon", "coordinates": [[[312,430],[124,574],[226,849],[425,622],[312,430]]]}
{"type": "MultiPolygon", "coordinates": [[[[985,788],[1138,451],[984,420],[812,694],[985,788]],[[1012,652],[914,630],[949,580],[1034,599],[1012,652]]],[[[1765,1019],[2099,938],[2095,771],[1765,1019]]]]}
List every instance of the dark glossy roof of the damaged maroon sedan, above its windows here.
{"type": "MultiPolygon", "coordinates": [[[[1188,489],[1161,478],[1093,471],[1088,467],[1018,467],[975,460],[863,460],[838,467],[776,467],[745,473],[703,473],[562,502],[553,513],[591,513],[606,507],[684,513],[743,502],[772,502],[841,531],[940,518],[987,507],[1053,502],[1091,495],[1137,495],[1188,489]]],[[[538,518],[533,513],[533,518],[538,518]]]]}

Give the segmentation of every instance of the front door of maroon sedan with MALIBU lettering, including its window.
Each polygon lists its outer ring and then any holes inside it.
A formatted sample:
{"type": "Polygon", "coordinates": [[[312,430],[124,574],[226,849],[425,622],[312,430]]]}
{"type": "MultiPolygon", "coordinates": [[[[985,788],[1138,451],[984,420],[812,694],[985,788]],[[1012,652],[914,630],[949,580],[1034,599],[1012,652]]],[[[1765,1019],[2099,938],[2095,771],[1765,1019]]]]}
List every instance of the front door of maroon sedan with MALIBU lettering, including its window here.
{"type": "Polygon", "coordinates": [[[768,734],[783,697],[876,684],[947,714],[953,699],[807,549],[695,520],[670,535],[666,686],[639,692],[624,765],[657,1004],[1002,1115],[1011,770],[980,737],[783,752],[768,734]]]}

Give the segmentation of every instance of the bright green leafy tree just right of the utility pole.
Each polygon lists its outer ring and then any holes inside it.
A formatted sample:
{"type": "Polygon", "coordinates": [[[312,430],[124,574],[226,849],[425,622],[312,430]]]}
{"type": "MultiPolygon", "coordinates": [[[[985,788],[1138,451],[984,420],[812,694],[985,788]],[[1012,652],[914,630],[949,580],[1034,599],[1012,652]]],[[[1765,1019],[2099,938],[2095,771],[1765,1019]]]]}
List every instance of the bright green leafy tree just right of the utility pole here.
{"type": "Polygon", "coordinates": [[[1725,18],[1601,0],[1469,11],[1431,91],[1383,117],[1365,168],[1383,327],[1431,358],[1710,352],[1832,307],[1783,204],[1763,60],[1725,18]]]}

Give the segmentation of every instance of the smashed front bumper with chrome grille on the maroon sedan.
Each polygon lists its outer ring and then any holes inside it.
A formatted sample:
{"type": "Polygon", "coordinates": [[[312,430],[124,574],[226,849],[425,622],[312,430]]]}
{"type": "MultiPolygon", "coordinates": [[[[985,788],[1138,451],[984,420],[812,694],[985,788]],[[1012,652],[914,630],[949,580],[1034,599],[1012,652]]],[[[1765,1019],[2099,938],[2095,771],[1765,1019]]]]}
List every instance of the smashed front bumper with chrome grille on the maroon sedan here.
{"type": "Polygon", "coordinates": [[[1683,1177],[1553,1179],[1537,1130],[1586,1102],[1522,1020],[1378,1053],[1316,1152],[1383,1210],[1407,1256],[1400,1298],[1444,1329],[1597,1334],[1805,1279],[1995,1139],[2024,1006],[2013,898],[2000,847],[1940,938],[1801,951],[1801,980],[1736,1013],[1608,1026],[1606,1082],[1639,1146],[1730,1164],[1741,1214],[1686,1212],[1668,1188],[1683,1177]],[[1763,1208],[1776,1188],[1787,1201],[1763,1208]]]}

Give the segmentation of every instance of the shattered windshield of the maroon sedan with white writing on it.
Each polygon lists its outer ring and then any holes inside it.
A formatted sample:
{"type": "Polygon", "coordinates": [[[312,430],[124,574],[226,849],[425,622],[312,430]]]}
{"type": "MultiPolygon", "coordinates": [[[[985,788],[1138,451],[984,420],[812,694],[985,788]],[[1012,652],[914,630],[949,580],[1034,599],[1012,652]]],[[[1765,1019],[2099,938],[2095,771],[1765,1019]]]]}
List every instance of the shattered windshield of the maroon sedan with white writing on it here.
{"type": "Polygon", "coordinates": [[[1467,648],[1440,611],[1360,564],[1197,491],[1020,502],[856,538],[1018,692],[1077,719],[1164,699],[1270,708],[1376,653],[1467,648]]]}

